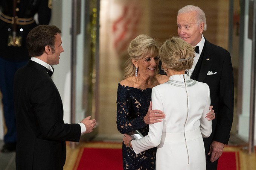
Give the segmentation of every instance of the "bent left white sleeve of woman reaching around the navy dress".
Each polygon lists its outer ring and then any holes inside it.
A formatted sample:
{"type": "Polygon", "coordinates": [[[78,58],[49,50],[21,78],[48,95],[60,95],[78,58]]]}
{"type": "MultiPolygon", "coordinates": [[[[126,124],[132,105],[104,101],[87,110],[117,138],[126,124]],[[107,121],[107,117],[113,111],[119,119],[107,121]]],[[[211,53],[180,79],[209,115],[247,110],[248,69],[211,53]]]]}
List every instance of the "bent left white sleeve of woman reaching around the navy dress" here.
{"type": "MultiPolygon", "coordinates": [[[[152,88],[152,109],[163,111],[162,99],[156,88],[152,88]]],[[[138,154],[152,147],[158,146],[161,141],[162,131],[163,121],[149,124],[149,132],[147,136],[131,141],[134,152],[138,154]]]]}

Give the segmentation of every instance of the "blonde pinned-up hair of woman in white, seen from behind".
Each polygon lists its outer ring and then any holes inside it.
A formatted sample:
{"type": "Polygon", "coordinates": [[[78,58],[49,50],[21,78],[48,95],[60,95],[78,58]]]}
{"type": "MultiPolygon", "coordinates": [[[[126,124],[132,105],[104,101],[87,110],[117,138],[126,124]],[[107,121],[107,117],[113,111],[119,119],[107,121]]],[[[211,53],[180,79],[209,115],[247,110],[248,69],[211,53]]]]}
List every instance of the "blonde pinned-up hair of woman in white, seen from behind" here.
{"type": "Polygon", "coordinates": [[[195,47],[179,37],[167,39],[159,50],[159,58],[167,69],[182,71],[190,69],[195,57],[195,47]]]}

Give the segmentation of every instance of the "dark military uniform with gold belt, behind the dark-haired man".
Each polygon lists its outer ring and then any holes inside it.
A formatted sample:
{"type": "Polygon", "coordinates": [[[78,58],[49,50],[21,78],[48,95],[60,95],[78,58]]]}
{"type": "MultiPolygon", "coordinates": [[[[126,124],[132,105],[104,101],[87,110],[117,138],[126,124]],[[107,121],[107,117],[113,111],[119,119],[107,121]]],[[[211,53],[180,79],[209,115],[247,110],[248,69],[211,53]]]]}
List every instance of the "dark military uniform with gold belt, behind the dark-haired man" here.
{"type": "Polygon", "coordinates": [[[7,127],[2,152],[15,150],[13,78],[18,68],[26,65],[30,59],[26,47],[27,34],[38,24],[49,24],[50,17],[51,0],[0,0],[0,90],[7,127]],[[35,14],[38,14],[38,23],[34,20],[35,14]]]}

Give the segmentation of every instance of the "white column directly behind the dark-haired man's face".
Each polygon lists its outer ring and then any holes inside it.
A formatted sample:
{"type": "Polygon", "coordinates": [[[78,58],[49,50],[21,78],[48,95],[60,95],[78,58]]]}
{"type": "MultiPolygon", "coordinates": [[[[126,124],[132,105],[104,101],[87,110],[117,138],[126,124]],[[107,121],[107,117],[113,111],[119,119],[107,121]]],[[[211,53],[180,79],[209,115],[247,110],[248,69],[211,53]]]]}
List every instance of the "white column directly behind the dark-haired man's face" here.
{"type": "Polygon", "coordinates": [[[71,73],[71,15],[72,1],[53,0],[52,18],[50,25],[55,25],[61,29],[62,47],[59,64],[53,65],[53,82],[59,90],[64,108],[64,122],[70,123],[70,73],[71,73]]]}

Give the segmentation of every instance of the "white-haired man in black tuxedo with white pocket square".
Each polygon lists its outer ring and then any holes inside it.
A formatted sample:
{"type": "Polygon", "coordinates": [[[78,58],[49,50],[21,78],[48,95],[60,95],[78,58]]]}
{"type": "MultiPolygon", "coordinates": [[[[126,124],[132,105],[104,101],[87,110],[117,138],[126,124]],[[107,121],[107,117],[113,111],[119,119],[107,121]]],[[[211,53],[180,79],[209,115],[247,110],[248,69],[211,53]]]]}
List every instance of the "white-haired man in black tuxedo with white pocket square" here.
{"type": "Polygon", "coordinates": [[[216,170],[218,158],[229,141],[233,121],[234,79],[230,53],[207,41],[206,17],[199,7],[187,5],[178,11],[178,35],[181,39],[198,46],[194,63],[187,70],[191,79],[207,83],[210,87],[211,105],[216,118],[212,120],[212,134],[204,139],[207,170],[216,170]]]}

